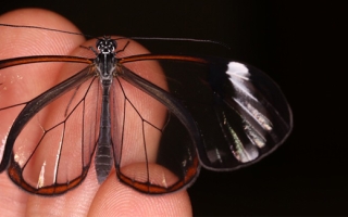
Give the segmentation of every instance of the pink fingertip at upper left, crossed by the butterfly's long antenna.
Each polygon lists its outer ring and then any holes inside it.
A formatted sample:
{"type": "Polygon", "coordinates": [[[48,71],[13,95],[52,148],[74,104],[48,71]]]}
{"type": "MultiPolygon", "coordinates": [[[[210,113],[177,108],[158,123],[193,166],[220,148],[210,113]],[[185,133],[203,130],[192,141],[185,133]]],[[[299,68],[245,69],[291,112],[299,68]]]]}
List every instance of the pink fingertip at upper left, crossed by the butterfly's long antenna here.
{"type": "MultiPolygon", "coordinates": [[[[0,16],[0,23],[11,25],[38,26],[79,33],[65,17],[44,9],[18,9],[0,16]]],[[[37,28],[12,28],[0,26],[1,59],[24,55],[67,54],[84,41],[83,36],[57,33],[37,28]]]]}

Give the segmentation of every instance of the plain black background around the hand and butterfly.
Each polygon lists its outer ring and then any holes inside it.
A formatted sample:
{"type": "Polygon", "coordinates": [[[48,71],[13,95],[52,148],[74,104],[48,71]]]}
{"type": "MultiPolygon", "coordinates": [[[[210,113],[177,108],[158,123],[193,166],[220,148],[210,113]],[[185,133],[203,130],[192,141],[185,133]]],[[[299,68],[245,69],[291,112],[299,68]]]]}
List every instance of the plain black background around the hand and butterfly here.
{"type": "Polygon", "coordinates": [[[347,7],[336,2],[32,0],[2,1],[0,13],[44,8],[94,36],[229,44],[231,59],[261,68],[282,87],[295,127],[275,153],[253,166],[234,173],[202,169],[188,190],[194,214],[348,215],[347,7]]]}

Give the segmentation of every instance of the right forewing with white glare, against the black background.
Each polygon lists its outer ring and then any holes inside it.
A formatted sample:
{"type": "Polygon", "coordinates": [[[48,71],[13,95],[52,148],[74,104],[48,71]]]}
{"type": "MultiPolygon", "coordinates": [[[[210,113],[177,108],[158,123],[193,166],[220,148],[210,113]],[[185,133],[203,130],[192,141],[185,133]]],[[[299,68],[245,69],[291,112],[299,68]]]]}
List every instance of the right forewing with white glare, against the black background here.
{"type": "MultiPolygon", "coordinates": [[[[233,170],[254,163],[288,137],[293,127],[290,107],[277,85],[259,69],[223,59],[174,55],[139,55],[120,62],[127,66],[128,62],[150,60],[161,65],[169,94],[150,91],[135,78],[127,80],[162,104],[171,102],[166,104],[169,123],[175,116],[186,128],[190,138],[186,148],[196,146],[200,163],[208,169],[233,170]]],[[[175,135],[178,128],[162,130],[163,135],[175,135]]],[[[188,158],[185,156],[194,154],[182,149],[176,155],[183,163],[188,158]]],[[[164,162],[171,164],[169,157],[164,162]]]]}

